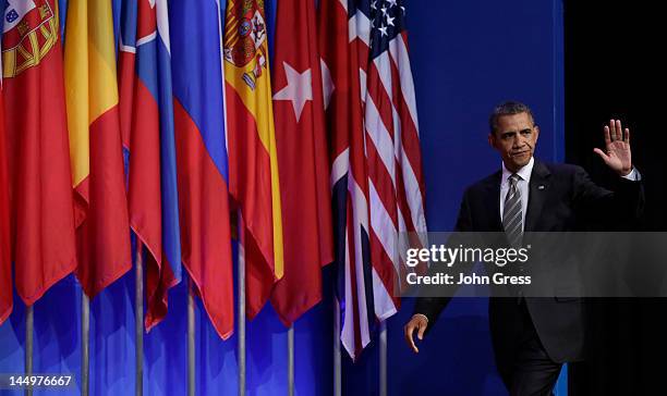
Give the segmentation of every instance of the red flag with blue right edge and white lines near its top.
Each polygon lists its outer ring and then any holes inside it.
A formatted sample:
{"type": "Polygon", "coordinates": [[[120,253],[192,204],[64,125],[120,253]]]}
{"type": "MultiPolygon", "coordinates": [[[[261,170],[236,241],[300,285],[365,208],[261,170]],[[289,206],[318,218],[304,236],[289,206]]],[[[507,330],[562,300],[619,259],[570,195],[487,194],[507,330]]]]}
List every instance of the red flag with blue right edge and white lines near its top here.
{"type": "Polygon", "coordinates": [[[121,13],[121,129],[130,157],[130,226],[147,251],[148,330],[167,314],[168,290],[181,280],[167,11],[165,0],[128,0],[121,13]]]}

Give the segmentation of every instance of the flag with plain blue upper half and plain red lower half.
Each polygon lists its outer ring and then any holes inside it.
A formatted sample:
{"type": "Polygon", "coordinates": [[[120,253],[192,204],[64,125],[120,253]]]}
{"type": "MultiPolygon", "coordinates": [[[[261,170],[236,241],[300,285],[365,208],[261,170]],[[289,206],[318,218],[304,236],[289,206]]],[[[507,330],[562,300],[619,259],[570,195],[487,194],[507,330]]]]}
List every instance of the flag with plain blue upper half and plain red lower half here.
{"type": "Polygon", "coordinates": [[[169,3],[173,119],[183,265],[222,338],[234,329],[220,10],[169,3]]]}

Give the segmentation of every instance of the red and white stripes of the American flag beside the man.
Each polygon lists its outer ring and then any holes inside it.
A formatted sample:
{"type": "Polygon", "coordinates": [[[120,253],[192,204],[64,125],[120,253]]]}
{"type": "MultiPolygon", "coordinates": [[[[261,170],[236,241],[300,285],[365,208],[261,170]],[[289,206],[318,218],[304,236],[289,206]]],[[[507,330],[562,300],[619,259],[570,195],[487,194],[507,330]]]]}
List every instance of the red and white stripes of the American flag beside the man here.
{"type": "MultiPolygon", "coordinates": [[[[354,20],[356,32],[369,30],[371,21],[363,13],[357,12],[354,20]]],[[[379,320],[399,308],[396,296],[404,279],[400,274],[407,271],[399,255],[399,235],[416,232],[424,237],[426,232],[419,123],[405,39],[403,32],[389,42],[389,51],[360,64],[365,82],[361,95],[371,191],[373,293],[379,320]]],[[[360,54],[371,51],[365,35],[351,45],[360,54]]],[[[426,245],[426,240],[421,243],[426,245]]]]}

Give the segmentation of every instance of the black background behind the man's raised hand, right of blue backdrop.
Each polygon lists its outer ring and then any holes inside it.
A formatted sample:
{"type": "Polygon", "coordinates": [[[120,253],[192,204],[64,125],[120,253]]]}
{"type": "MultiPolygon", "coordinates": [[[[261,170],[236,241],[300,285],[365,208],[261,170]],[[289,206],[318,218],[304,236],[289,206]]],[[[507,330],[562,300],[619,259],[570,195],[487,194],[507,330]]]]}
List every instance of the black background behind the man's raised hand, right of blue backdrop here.
{"type": "MultiPolygon", "coordinates": [[[[635,226],[643,231],[667,230],[658,15],[646,3],[565,0],[567,162],[583,165],[597,183],[609,183],[616,176],[593,147],[603,147],[603,124],[621,119],[631,129],[633,163],[644,180],[645,212],[635,226]]],[[[640,251],[630,263],[638,260],[640,251]]],[[[589,307],[589,358],[571,366],[570,395],[664,394],[667,300],[594,299],[589,307]]]]}

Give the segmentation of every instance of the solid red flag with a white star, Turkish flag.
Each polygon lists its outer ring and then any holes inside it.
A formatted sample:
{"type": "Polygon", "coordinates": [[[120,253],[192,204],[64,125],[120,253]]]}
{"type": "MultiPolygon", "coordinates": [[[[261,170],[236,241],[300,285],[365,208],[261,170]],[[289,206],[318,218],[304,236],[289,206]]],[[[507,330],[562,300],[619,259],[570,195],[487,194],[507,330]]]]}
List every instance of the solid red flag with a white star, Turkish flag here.
{"type": "Polygon", "coordinates": [[[322,267],[333,261],[329,159],[315,2],[278,2],[274,121],[282,201],[284,275],[271,304],[286,326],[322,299],[322,267]]]}

